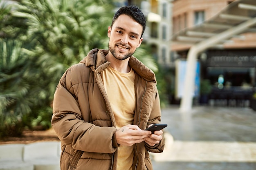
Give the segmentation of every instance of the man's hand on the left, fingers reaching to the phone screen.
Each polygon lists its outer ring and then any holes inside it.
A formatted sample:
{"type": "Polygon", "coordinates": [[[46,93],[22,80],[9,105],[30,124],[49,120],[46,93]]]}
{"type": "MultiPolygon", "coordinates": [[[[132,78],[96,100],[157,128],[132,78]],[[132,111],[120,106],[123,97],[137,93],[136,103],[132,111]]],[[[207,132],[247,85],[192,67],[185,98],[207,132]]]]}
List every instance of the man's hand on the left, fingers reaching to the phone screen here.
{"type": "Polygon", "coordinates": [[[116,131],[117,144],[124,146],[140,143],[150,135],[150,131],[141,130],[137,125],[126,125],[116,131]]]}

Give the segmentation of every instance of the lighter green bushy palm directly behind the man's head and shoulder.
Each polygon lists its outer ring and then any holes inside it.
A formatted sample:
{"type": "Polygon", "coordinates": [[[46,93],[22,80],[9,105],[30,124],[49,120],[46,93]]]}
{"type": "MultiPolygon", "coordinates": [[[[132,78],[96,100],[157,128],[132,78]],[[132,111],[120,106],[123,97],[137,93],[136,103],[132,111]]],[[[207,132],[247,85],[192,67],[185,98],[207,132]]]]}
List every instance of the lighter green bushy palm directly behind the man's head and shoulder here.
{"type": "Polygon", "coordinates": [[[90,49],[107,47],[113,9],[109,0],[22,0],[16,8],[13,16],[27,19],[27,49],[49,87],[48,96],[67,67],[90,49]]]}

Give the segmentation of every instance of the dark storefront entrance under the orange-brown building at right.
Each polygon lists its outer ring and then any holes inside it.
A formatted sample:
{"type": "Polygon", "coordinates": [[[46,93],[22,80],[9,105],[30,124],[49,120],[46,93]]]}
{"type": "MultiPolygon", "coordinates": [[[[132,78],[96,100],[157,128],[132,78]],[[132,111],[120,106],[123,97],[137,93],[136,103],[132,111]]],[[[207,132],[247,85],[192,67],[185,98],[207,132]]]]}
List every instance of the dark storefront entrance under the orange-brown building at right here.
{"type": "Polygon", "coordinates": [[[208,50],[202,62],[202,79],[213,86],[214,105],[249,106],[254,93],[256,49],[208,50]],[[203,60],[205,59],[205,60],[203,60]]]}

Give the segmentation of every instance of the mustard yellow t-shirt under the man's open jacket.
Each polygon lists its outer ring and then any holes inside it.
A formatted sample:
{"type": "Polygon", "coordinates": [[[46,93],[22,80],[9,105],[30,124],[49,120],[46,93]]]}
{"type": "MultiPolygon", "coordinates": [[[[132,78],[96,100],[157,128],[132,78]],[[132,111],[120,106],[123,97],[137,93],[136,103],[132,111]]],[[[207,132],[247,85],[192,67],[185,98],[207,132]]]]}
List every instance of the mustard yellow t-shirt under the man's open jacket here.
{"type": "MultiPolygon", "coordinates": [[[[120,73],[112,67],[102,72],[103,84],[110,101],[117,129],[133,124],[135,113],[135,73],[120,73]]],[[[119,146],[117,170],[132,170],[133,146],[119,146]]]]}

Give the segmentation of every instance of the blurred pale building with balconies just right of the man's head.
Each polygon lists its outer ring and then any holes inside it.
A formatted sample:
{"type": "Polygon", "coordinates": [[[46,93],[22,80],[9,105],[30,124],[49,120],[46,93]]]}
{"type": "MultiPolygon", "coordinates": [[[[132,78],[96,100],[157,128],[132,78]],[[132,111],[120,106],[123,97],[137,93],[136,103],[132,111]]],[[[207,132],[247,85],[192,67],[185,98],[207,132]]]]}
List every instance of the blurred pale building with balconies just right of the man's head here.
{"type": "Polygon", "coordinates": [[[172,35],[172,4],[171,0],[149,0],[141,5],[146,12],[148,27],[146,43],[150,44],[152,53],[158,63],[164,67],[173,67],[171,56],[171,35],[172,35]],[[148,4],[148,8],[144,7],[148,4]]]}

